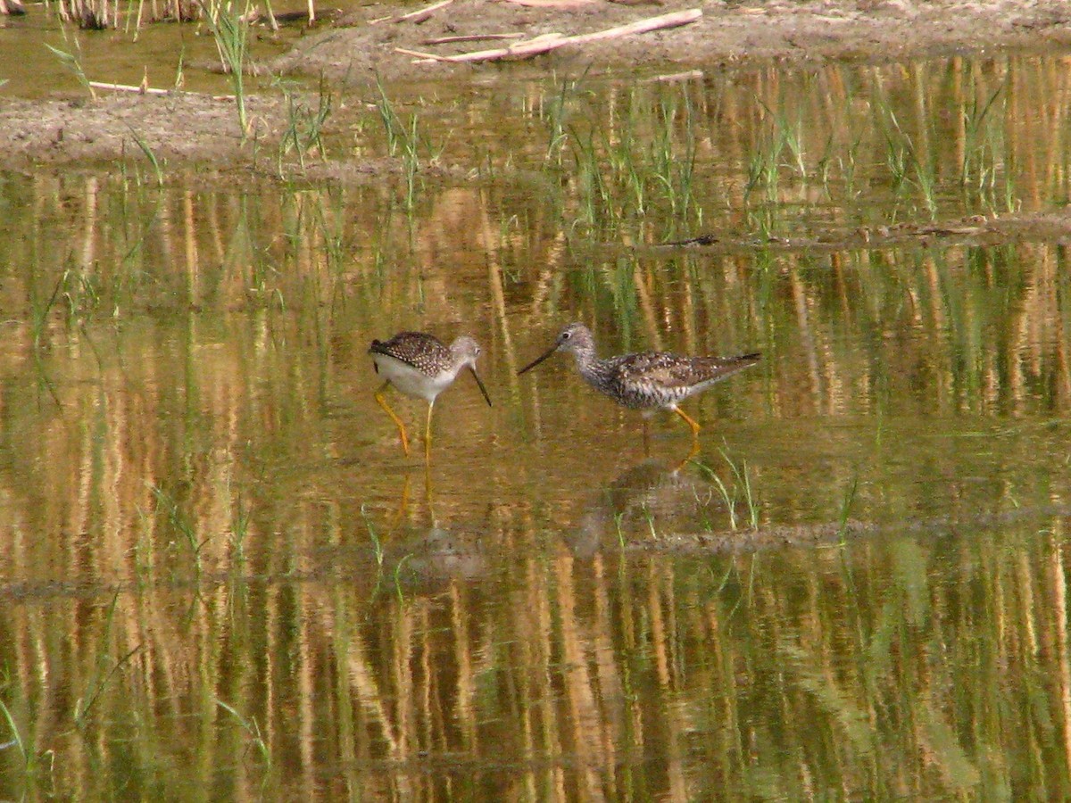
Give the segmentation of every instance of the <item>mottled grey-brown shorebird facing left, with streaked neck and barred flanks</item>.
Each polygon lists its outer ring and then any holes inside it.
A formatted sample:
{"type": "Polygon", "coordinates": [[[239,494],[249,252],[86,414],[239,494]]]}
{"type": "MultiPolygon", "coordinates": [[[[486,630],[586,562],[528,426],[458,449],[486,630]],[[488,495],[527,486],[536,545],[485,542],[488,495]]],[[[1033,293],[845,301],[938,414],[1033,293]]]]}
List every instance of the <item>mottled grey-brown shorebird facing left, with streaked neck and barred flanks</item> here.
{"type": "Polygon", "coordinates": [[[692,428],[693,443],[698,441],[700,427],[677,405],[760,359],[757,351],[739,357],[684,357],[667,351],[640,351],[600,360],[590,330],[583,323],[570,323],[545,354],[517,374],[534,368],[556,351],[572,351],[576,367],[588,384],[619,405],[643,410],[645,415],[654,410],[673,410],[692,428]]]}

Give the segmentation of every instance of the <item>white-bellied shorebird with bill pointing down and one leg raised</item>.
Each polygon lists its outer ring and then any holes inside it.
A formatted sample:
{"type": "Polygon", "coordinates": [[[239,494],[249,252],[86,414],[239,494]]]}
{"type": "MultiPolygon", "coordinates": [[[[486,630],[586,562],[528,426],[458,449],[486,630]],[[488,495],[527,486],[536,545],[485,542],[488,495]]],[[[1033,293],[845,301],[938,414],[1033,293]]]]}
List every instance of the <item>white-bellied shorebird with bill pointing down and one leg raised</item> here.
{"type": "Polygon", "coordinates": [[[462,336],[446,346],[438,337],[424,332],[399,332],[389,340],[373,340],[368,348],[376,373],[387,381],[376,391],[376,402],[387,411],[402,436],[402,449],[409,454],[409,438],[402,419],[387,404],[383,392],[394,385],[399,392],[427,402],[427,424],[424,428],[424,457],[432,458],[432,410],[435,398],[453,384],[457,373],[468,367],[480,385],[480,392],[491,406],[491,396],[476,373],[480,346],[471,337],[462,336]]]}

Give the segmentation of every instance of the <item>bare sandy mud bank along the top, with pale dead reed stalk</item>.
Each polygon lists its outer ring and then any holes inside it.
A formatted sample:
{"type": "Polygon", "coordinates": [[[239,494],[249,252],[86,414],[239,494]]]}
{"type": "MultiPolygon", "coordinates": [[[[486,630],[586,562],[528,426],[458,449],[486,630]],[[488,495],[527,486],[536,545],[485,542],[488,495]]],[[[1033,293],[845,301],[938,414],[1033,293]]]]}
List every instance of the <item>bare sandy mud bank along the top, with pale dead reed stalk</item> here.
{"type": "MultiPolygon", "coordinates": [[[[545,0],[531,0],[543,2],[545,0]]],[[[553,0],[552,0],[553,1],[553,0]]],[[[567,2],[568,0],[562,0],[567,2]]],[[[451,56],[502,43],[426,45],[447,36],[522,33],[576,35],[645,17],[697,9],[702,18],[654,31],[578,46],[528,61],[545,71],[570,62],[630,69],[746,64],[764,60],[860,59],[888,61],[995,47],[1043,47],[1071,43],[1071,3],[1064,0],[576,0],[574,7],[527,7],[506,0],[454,0],[422,22],[380,21],[397,13],[371,5],[334,30],[306,37],[278,59],[277,70],[323,71],[330,77],[439,77],[452,72],[496,70],[484,64],[414,63],[396,48],[451,56]]],[[[429,5],[406,6],[404,11],[429,5]]]]}

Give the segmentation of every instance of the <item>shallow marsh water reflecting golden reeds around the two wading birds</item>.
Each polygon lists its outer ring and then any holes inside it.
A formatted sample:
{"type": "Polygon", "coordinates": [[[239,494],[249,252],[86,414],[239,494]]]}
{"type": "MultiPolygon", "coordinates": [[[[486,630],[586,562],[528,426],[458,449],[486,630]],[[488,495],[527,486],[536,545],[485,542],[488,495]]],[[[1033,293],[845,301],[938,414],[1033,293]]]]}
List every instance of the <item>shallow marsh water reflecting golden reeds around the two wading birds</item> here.
{"type": "Polygon", "coordinates": [[[0,797],[1068,797],[1065,246],[850,239],[1065,203],[1065,76],[399,88],[464,168],[411,192],[3,177],[0,797]],[[516,376],[571,320],[764,360],[682,464],[516,376]],[[409,328],[494,400],[427,468],[365,353],[409,328]]]}

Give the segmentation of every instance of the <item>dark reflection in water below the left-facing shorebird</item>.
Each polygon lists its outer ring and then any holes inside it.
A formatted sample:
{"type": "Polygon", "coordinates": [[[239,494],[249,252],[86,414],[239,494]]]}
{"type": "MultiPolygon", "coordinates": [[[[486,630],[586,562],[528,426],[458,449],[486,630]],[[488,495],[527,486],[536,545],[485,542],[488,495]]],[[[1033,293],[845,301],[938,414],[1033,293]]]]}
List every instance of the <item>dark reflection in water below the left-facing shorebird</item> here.
{"type": "Polygon", "coordinates": [[[598,493],[570,546],[587,556],[603,543],[619,546],[619,539],[634,528],[695,530],[709,519],[714,497],[709,483],[691,474],[652,460],[640,463],[598,493]]]}

